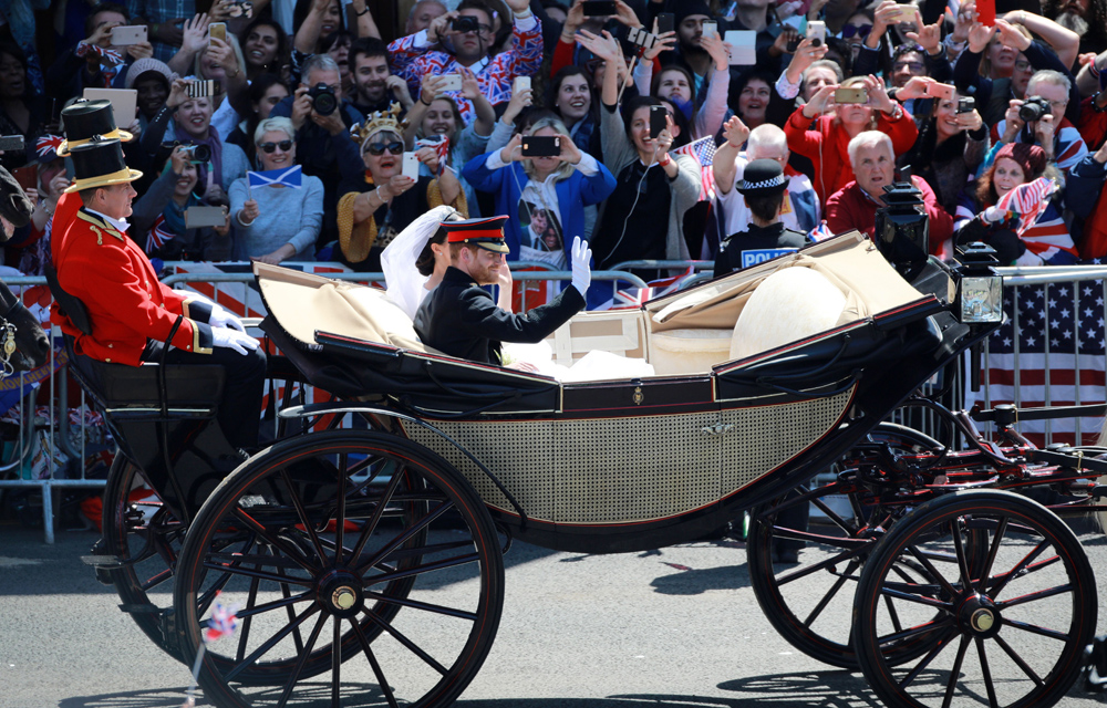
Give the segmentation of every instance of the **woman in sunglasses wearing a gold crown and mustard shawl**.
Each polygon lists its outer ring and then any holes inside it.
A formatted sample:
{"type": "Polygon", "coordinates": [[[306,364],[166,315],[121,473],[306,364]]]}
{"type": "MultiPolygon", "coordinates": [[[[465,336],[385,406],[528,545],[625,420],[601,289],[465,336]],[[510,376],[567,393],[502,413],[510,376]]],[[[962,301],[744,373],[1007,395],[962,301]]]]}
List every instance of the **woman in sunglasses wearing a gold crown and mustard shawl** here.
{"type": "Polygon", "coordinates": [[[453,170],[441,164],[433,147],[415,153],[432,176],[405,177],[404,138],[397,119],[399,104],[376,112],[356,128],[365,163],[364,176],[339,185],[338,260],[361,272],[379,272],[381,253],[392,240],[433,207],[449,205],[468,215],[465,192],[453,170]]]}

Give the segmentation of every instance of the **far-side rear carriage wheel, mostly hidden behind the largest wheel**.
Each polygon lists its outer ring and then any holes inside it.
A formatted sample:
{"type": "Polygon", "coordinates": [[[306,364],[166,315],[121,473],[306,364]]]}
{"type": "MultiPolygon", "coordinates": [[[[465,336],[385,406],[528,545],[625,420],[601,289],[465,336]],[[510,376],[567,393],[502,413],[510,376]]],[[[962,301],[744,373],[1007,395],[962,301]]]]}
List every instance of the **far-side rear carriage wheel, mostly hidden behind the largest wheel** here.
{"type": "MultiPolygon", "coordinates": [[[[170,656],[176,637],[166,637],[162,617],[173,604],[173,566],[185,528],[143,483],[138,468],[115,455],[104,486],[103,551],[128,564],[106,573],[138,628],[170,656]]],[[[99,572],[97,572],[99,573],[99,572]]]]}

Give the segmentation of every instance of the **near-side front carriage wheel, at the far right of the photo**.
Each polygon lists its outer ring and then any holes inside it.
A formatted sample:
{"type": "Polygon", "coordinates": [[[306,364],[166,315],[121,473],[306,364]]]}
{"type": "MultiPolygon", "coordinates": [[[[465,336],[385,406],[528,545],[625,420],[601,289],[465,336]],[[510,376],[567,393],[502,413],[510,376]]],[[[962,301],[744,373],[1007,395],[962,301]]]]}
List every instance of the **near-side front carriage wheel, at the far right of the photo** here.
{"type": "Polygon", "coordinates": [[[1078,677],[1096,612],[1092,566],[1056,514],[1011,492],[959,492],[920,506],[873,550],[855,648],[888,706],[944,708],[956,696],[958,706],[1047,707],[1078,677]],[[973,534],[987,549],[979,561],[973,534]],[[925,581],[897,577],[903,559],[922,564],[925,581]],[[886,647],[911,637],[930,637],[931,649],[894,668],[886,647]]]}

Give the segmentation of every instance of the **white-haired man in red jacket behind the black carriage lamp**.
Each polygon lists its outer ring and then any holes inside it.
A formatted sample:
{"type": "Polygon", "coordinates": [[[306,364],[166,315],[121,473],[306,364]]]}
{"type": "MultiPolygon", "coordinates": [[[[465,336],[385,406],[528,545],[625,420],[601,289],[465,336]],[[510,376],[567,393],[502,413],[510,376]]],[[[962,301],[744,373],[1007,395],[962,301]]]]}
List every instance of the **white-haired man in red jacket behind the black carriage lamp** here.
{"type": "MultiPolygon", "coordinates": [[[[857,229],[872,238],[877,226],[877,209],[884,206],[884,186],[894,181],[896,155],[892,142],[879,131],[865,131],[849,142],[849,162],[856,179],[827,199],[827,228],[831,233],[857,229]]],[[[938,204],[938,197],[925,179],[912,177],[911,184],[922,192],[930,217],[930,252],[952,258],[953,217],[938,204]]]]}

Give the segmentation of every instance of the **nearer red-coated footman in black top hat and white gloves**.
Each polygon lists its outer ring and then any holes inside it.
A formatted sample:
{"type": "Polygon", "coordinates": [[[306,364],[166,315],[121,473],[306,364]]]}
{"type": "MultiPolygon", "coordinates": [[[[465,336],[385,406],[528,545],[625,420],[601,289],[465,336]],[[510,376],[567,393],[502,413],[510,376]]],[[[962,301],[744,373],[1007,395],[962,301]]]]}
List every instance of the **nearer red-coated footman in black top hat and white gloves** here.
{"type": "Polygon", "coordinates": [[[232,446],[255,447],[266,372],[258,341],[218,304],[158,282],[146,254],[127,237],[136,196],[131,183],[142,173],[126,166],[117,139],[94,137],[69,153],[75,178],[65,191],[77,195],[82,206],[51,244],[51,319],[73,337],[77,356],[139,366],[158,361],[183,316],[166,363],[225,366],[219,424],[232,446]]]}

